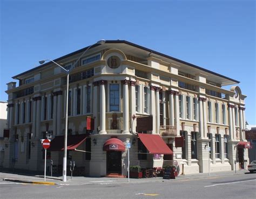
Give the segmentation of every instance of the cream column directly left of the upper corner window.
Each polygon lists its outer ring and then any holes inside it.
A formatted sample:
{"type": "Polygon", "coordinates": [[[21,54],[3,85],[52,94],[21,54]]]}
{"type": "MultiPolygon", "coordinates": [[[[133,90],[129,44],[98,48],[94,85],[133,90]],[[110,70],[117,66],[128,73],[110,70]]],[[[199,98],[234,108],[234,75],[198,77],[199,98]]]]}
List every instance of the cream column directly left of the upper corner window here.
{"type": "Polygon", "coordinates": [[[100,80],[100,131],[99,134],[106,134],[106,97],[105,97],[105,84],[107,84],[106,80],[100,80]]]}

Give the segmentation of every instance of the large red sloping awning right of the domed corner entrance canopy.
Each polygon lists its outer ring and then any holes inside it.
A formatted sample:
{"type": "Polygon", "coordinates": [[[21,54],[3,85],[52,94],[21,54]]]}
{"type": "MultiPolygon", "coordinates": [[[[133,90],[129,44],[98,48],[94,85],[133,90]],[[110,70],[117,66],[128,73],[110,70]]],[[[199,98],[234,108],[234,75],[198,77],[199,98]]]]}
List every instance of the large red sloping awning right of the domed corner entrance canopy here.
{"type": "Polygon", "coordinates": [[[172,150],[158,134],[138,133],[138,136],[151,154],[173,154],[172,150]]]}

